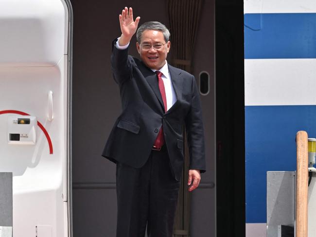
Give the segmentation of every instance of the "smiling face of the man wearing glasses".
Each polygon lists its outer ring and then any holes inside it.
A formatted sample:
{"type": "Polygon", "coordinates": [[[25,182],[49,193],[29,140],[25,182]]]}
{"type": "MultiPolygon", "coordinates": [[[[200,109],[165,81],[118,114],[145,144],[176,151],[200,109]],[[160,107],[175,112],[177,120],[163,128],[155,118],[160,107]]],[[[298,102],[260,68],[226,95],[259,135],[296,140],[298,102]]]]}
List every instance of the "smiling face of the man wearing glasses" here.
{"type": "Polygon", "coordinates": [[[140,44],[137,42],[137,51],[140,54],[141,61],[151,69],[159,70],[166,63],[167,54],[170,50],[170,41],[165,42],[161,31],[145,30],[140,38],[140,44]],[[156,50],[151,47],[149,50],[143,49],[144,45],[163,45],[156,50]]]}

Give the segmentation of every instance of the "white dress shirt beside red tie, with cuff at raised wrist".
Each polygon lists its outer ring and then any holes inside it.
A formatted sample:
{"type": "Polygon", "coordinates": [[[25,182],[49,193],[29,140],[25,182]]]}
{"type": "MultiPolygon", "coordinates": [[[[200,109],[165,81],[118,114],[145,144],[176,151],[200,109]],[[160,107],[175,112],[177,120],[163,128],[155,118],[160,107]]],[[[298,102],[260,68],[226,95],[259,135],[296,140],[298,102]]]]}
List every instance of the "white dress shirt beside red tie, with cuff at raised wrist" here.
{"type": "MultiPolygon", "coordinates": [[[[116,41],[116,48],[118,48],[119,50],[127,49],[128,45],[129,43],[127,45],[120,46],[119,40],[116,41]]],[[[151,69],[151,70],[154,72],[156,71],[155,69],[151,69]]],[[[163,67],[159,69],[159,71],[162,73],[161,79],[163,81],[163,85],[165,86],[167,110],[169,110],[176,102],[176,92],[175,92],[174,86],[172,85],[167,60],[166,60],[166,63],[163,65],[163,67]]]]}

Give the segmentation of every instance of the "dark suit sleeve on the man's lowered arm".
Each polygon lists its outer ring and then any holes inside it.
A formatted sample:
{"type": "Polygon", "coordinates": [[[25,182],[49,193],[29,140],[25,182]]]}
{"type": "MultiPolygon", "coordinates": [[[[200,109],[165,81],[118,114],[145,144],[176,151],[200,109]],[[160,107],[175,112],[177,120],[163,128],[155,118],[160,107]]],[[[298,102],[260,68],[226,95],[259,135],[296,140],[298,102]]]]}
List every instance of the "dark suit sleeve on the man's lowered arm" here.
{"type": "Polygon", "coordinates": [[[203,173],[206,171],[204,128],[200,95],[194,77],[192,82],[192,92],[191,108],[185,118],[190,151],[189,169],[199,169],[201,173],[203,173]]]}

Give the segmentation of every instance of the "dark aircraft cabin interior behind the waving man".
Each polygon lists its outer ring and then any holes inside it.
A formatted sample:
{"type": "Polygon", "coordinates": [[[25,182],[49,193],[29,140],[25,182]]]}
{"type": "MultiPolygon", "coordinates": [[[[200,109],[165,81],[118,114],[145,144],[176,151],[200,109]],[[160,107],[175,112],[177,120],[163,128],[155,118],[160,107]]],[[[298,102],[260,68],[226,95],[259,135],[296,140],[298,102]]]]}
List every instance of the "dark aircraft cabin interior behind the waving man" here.
{"type": "MultiPolygon", "coordinates": [[[[110,55],[112,40],[121,35],[118,15],[126,4],[141,17],[140,24],[155,20],[170,29],[167,61],[192,73],[201,93],[207,172],[193,193],[180,192],[175,237],[245,236],[243,1],[71,4],[73,236],[115,236],[116,169],[101,153],[121,111],[110,55]]],[[[134,37],[129,54],[137,56],[135,44],[134,37]]]]}

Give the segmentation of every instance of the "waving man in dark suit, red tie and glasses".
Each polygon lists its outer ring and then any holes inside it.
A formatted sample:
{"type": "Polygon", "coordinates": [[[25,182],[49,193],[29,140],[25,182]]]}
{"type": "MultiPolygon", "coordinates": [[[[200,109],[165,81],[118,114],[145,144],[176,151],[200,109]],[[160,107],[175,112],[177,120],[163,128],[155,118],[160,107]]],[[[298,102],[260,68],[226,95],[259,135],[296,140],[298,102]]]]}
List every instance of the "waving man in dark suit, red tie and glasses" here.
{"type": "Polygon", "coordinates": [[[193,75],[167,64],[170,33],[159,22],[137,31],[140,60],[128,55],[140,17],[125,7],[111,56],[122,113],[103,156],[117,164],[117,237],[171,237],[183,168],[183,125],[190,150],[189,191],[205,171],[201,103],[193,75]]]}

